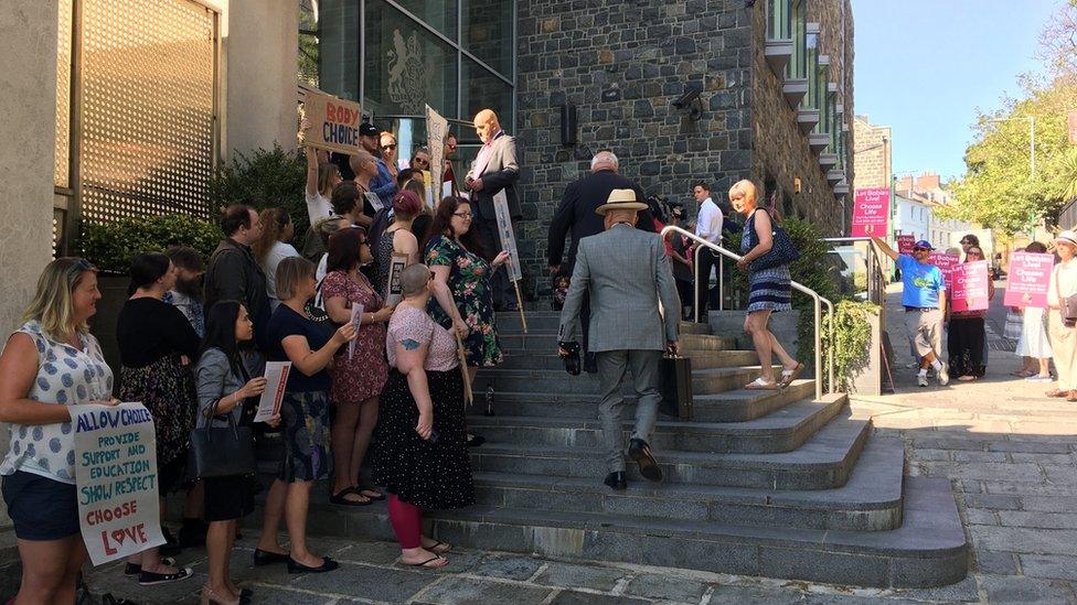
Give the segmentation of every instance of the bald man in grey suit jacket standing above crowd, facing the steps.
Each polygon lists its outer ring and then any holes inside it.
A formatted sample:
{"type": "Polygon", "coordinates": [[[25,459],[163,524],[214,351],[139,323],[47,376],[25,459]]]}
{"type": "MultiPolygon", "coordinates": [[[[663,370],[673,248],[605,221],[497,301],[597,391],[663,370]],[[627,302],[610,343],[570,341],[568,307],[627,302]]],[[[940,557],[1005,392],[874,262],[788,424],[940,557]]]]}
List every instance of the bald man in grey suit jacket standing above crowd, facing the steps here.
{"type": "MultiPolygon", "coordinates": [[[[516,140],[501,129],[498,115],[492,109],[483,109],[474,116],[474,131],[482,141],[479,154],[463,180],[470,191],[471,208],[474,213],[472,227],[479,230],[487,250],[500,250],[501,236],[498,235],[498,215],[493,209],[493,196],[505,193],[509,215],[520,218],[520,199],[516,197],[516,181],[520,166],[516,164],[516,140]]],[[[515,311],[516,296],[509,283],[506,268],[498,268],[490,277],[493,306],[501,311],[515,311]]]]}

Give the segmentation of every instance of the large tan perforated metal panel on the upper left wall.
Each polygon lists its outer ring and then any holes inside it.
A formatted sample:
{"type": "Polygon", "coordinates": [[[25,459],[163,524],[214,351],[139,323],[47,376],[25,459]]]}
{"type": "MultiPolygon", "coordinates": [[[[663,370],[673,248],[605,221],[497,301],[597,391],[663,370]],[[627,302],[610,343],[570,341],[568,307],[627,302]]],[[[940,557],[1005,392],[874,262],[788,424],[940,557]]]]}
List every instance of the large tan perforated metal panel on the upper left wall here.
{"type": "Polygon", "coordinates": [[[190,0],[79,0],[84,219],[209,216],[216,13],[190,0]]]}

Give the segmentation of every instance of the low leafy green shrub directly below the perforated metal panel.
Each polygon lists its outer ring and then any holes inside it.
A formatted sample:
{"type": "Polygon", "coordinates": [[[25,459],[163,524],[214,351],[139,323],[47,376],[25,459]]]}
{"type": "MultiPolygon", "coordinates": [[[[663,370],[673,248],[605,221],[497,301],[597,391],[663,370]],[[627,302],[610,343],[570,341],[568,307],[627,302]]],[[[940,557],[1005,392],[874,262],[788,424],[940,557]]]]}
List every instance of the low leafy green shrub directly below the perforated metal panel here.
{"type": "Polygon", "coordinates": [[[124,218],[82,225],[81,255],[103,271],[127,273],[131,258],[141,252],[163,252],[172,246],[190,246],[209,260],[221,241],[221,228],[209,220],[183,214],[124,218]]]}

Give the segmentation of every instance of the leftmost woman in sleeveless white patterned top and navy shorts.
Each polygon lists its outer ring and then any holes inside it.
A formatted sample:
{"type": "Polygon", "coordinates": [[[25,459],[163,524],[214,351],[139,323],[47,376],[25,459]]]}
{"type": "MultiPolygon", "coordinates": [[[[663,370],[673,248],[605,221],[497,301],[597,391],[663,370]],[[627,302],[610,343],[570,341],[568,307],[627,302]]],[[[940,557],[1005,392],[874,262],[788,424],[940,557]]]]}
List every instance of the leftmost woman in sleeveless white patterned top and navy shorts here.
{"type": "Polygon", "coordinates": [[[0,475],[22,559],[19,603],[74,603],[75,579],[86,561],[67,406],[119,403],[111,397],[113,372],[86,324],[98,299],[92,264],[78,258],[50,262],[25,323],[0,354],[0,421],[11,430],[0,475]]]}

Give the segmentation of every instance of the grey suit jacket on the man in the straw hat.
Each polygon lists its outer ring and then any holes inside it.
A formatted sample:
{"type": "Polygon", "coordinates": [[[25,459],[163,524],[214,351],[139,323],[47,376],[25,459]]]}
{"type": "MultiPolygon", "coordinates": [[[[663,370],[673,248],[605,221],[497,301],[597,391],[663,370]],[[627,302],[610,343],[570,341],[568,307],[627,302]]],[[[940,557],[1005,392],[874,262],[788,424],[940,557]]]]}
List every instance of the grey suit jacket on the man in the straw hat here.
{"type": "Polygon", "coordinates": [[[558,339],[576,341],[590,293],[590,350],[662,350],[678,338],[681,302],[658,234],[614,225],[579,240],[558,339]],[[665,317],[659,313],[662,302],[665,317]]]}

